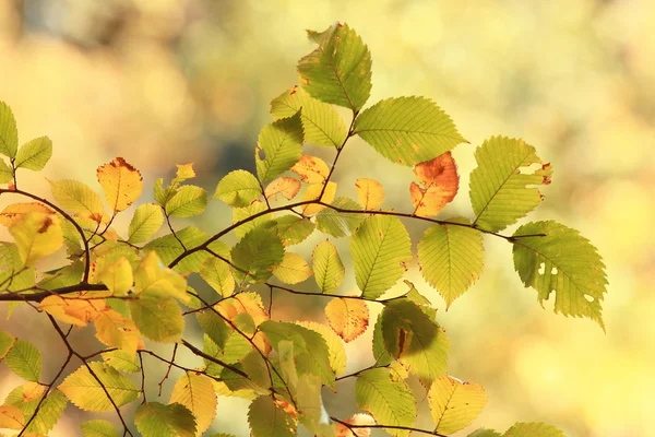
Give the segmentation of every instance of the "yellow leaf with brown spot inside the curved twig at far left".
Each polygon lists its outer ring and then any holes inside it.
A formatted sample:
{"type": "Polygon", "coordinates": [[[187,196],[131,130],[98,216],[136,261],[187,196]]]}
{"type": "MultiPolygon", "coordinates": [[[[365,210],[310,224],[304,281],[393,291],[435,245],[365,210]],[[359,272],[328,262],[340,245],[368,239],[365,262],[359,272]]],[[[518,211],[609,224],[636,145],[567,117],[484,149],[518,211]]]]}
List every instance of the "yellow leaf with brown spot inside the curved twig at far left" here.
{"type": "Polygon", "coordinates": [[[59,217],[43,212],[31,212],[15,221],[9,232],[14,237],[19,255],[25,265],[55,253],[63,245],[59,217]]]}

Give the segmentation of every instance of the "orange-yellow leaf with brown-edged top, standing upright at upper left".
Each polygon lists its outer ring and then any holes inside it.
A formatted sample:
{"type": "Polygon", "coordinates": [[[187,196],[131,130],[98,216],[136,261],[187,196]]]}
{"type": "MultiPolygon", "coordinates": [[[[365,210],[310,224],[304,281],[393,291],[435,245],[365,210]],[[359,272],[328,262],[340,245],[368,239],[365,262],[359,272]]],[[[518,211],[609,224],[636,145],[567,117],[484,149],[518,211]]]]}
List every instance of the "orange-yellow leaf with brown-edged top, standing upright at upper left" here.
{"type": "Polygon", "coordinates": [[[114,213],[134,203],[143,190],[141,173],[122,157],[98,167],[96,175],[114,213]]]}

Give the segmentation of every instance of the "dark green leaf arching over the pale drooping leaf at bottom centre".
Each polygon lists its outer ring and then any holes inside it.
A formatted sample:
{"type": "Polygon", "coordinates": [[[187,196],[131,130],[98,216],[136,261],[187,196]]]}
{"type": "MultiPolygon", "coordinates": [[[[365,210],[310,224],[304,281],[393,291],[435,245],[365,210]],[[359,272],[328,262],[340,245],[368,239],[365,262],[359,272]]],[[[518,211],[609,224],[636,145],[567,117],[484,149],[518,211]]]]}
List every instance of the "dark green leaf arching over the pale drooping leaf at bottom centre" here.
{"type": "Polygon", "coordinates": [[[327,343],[319,332],[296,323],[272,320],[264,321],[260,329],[275,350],[281,341],[289,340],[294,343],[298,375],[319,376],[323,383],[334,389],[334,371],[330,366],[327,343]]]}

